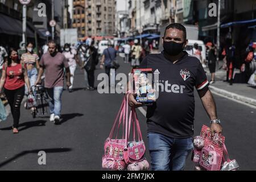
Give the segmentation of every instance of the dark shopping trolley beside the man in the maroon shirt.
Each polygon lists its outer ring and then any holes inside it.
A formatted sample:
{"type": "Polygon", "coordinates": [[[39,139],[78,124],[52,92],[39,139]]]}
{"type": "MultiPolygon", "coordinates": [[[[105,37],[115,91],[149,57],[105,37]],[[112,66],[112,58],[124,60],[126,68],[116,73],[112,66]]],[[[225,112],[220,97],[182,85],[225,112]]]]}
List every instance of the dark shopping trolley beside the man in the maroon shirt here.
{"type": "Polygon", "coordinates": [[[35,107],[35,111],[32,112],[33,118],[36,117],[36,115],[46,115],[48,113],[48,101],[49,96],[46,92],[46,89],[43,85],[34,85],[31,86],[32,90],[34,90],[34,97],[37,103],[37,106],[35,107]]]}

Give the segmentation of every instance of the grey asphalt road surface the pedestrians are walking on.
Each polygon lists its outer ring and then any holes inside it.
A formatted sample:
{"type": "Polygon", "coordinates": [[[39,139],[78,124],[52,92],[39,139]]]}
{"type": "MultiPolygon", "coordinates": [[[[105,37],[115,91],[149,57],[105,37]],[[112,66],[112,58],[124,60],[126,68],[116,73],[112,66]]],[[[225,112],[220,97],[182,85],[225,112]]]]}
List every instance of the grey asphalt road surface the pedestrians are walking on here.
{"type": "MultiPolygon", "coordinates": [[[[127,73],[129,69],[128,64],[122,63],[118,72],[127,73]]],[[[101,72],[97,69],[96,78],[101,72]]],[[[0,170],[102,170],[104,141],[110,133],[123,94],[85,91],[83,76],[83,72],[77,69],[75,92],[65,90],[63,93],[61,125],[53,125],[47,117],[32,119],[24,107],[19,134],[14,135],[11,131],[11,116],[0,123],[0,170]],[[39,151],[46,152],[46,165],[38,164],[39,151]]],[[[199,135],[201,126],[208,125],[209,118],[197,93],[195,95],[195,135],[199,135]]],[[[230,159],[236,159],[241,170],[255,170],[256,110],[226,98],[214,98],[230,159]]],[[[147,147],[146,118],[139,110],[137,113],[147,147]]],[[[146,157],[150,160],[148,152],[146,157]]],[[[193,170],[190,157],[185,170],[193,170]]]]}

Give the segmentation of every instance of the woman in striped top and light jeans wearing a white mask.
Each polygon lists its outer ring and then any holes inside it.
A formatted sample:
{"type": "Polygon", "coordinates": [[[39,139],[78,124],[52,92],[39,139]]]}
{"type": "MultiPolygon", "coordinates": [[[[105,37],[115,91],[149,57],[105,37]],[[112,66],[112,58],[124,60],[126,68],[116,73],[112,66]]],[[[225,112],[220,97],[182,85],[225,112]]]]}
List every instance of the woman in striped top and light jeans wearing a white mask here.
{"type": "MultiPolygon", "coordinates": [[[[39,69],[39,56],[34,53],[34,44],[29,42],[26,46],[26,53],[23,53],[20,57],[20,64],[23,64],[27,70],[27,76],[30,80],[30,85],[32,86],[32,90],[34,96],[36,96],[35,91],[35,82],[38,77],[38,69],[39,69]]],[[[25,86],[25,94],[28,95],[28,88],[25,86]]],[[[26,103],[25,103],[26,106],[26,103]]],[[[36,109],[35,107],[31,108],[31,114],[35,117],[36,109]]]]}

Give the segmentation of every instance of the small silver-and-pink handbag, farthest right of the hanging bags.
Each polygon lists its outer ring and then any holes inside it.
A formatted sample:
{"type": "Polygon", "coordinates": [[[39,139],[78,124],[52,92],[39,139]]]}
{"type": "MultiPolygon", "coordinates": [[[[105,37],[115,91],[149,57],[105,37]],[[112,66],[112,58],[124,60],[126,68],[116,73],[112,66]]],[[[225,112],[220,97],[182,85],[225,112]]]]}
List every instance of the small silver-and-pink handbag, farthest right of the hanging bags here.
{"type": "Polygon", "coordinates": [[[226,156],[226,159],[223,155],[224,163],[222,164],[220,171],[238,171],[239,165],[238,165],[236,159],[230,160],[228,150],[226,150],[225,144],[223,145],[223,147],[224,147],[224,155],[226,156]]]}

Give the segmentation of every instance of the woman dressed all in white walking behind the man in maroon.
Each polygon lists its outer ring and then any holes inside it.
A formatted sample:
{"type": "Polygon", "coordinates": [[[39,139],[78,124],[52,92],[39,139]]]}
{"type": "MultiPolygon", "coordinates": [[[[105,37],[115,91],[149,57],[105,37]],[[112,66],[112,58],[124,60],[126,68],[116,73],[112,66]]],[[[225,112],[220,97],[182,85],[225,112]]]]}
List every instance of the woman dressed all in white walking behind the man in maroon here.
{"type": "Polygon", "coordinates": [[[64,51],[62,52],[63,55],[68,60],[69,70],[70,70],[70,82],[71,86],[69,86],[68,91],[69,93],[73,92],[73,82],[75,77],[75,71],[76,71],[76,64],[78,62],[77,60],[77,52],[75,49],[71,49],[69,44],[64,45],[64,51]]]}

